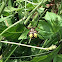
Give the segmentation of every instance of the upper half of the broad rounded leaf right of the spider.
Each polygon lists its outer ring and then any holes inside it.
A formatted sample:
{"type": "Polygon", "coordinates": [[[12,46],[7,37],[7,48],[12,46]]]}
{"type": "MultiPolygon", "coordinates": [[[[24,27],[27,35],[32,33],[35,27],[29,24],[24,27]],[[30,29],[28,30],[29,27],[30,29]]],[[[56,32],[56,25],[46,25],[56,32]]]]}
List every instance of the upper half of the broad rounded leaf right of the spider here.
{"type": "Polygon", "coordinates": [[[52,26],[44,20],[39,20],[38,27],[39,27],[39,29],[48,31],[48,32],[50,32],[52,30],[52,26]]]}

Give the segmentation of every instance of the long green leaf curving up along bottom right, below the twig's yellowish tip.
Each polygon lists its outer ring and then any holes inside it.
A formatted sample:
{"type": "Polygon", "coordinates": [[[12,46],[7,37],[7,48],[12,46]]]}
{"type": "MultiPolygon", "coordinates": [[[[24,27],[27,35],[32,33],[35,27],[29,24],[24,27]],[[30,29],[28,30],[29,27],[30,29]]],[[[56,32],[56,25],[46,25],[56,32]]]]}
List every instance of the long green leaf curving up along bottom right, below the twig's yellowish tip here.
{"type": "Polygon", "coordinates": [[[31,62],[51,62],[52,59],[54,58],[54,56],[57,55],[57,53],[59,52],[60,49],[61,49],[61,46],[58,46],[56,48],[56,50],[54,50],[50,54],[44,55],[44,56],[40,56],[40,57],[34,57],[31,60],[31,62]]]}

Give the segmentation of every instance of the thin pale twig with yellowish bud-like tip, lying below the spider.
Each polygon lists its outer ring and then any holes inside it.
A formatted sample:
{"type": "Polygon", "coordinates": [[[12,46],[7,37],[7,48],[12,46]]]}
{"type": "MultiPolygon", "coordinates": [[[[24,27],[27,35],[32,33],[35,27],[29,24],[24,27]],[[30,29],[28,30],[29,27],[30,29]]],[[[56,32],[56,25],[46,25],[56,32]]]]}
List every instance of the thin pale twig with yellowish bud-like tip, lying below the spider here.
{"type": "Polygon", "coordinates": [[[15,43],[15,42],[8,42],[8,41],[0,41],[2,43],[9,43],[9,44],[15,44],[15,45],[21,45],[21,46],[26,46],[26,47],[31,47],[31,48],[37,48],[37,49],[42,49],[42,50],[52,50],[52,49],[55,49],[56,46],[50,46],[48,48],[42,48],[42,47],[36,47],[36,46],[31,46],[31,45],[26,45],[26,44],[21,44],[21,43],[15,43]]]}

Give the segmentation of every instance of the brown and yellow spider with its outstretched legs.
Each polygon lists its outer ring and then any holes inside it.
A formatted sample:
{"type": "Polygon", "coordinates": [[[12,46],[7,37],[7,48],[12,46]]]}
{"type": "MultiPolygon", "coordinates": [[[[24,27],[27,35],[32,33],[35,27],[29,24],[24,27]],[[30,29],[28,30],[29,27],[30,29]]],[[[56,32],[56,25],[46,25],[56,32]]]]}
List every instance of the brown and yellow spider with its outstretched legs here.
{"type": "MultiPolygon", "coordinates": [[[[28,36],[29,36],[29,42],[28,42],[28,44],[30,44],[30,42],[31,42],[31,40],[32,39],[35,39],[35,38],[37,38],[38,37],[38,31],[36,30],[36,28],[37,28],[37,26],[38,26],[38,24],[36,25],[36,27],[34,28],[34,27],[31,27],[31,28],[28,28],[28,27],[26,27],[27,29],[30,29],[30,31],[28,32],[28,36]]],[[[41,35],[41,34],[39,34],[39,35],[41,35]]],[[[41,35],[42,36],[42,35],[41,35]]],[[[43,39],[45,39],[43,36],[42,36],[42,38],[43,39]]]]}

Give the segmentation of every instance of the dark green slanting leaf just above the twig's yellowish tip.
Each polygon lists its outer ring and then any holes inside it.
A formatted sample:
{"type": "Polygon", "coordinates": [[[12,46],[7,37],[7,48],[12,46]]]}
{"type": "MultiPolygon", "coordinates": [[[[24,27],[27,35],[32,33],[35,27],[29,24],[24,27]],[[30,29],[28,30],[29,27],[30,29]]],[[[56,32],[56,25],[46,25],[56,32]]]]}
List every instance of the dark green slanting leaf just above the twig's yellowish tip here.
{"type": "Polygon", "coordinates": [[[59,32],[54,33],[50,39],[48,39],[44,42],[43,47],[49,47],[51,44],[55,44],[56,42],[58,43],[59,40],[60,40],[59,32]]]}

